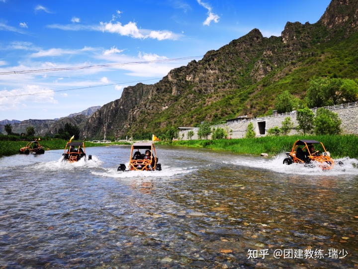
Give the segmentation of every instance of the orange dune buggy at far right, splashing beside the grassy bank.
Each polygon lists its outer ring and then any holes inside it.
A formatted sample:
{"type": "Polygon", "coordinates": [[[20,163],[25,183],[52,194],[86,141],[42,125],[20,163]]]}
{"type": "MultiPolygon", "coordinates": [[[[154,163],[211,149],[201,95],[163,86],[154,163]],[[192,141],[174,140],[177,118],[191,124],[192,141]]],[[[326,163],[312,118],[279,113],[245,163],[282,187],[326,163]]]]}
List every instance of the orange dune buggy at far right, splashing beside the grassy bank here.
{"type": "Polygon", "coordinates": [[[286,152],[287,158],[283,164],[299,163],[312,166],[312,161],[316,161],[322,170],[332,169],[335,165],[334,159],[326,150],[322,142],[316,140],[297,140],[294,142],[290,152],[286,152]],[[312,152],[312,147],[317,146],[320,150],[312,152]]]}

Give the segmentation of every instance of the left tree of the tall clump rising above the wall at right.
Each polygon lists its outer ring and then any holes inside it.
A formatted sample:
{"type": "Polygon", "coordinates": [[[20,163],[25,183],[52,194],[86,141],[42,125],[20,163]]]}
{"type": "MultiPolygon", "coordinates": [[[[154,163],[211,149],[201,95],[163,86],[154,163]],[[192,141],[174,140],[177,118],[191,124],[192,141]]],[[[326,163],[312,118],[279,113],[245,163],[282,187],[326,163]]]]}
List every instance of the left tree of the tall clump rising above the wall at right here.
{"type": "Polygon", "coordinates": [[[309,86],[306,92],[308,107],[319,108],[326,105],[328,86],[329,79],[326,78],[319,77],[309,81],[309,86]]]}

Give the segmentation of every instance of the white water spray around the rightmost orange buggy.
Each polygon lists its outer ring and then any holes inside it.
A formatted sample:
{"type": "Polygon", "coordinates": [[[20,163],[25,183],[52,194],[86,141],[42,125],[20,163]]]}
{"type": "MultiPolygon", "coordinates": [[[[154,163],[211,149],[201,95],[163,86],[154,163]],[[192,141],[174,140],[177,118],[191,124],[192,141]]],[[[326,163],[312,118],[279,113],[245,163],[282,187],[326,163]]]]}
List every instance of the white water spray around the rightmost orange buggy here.
{"type": "Polygon", "coordinates": [[[278,173],[286,174],[299,174],[299,175],[325,175],[325,176],[337,176],[337,175],[357,175],[358,173],[358,160],[349,157],[336,159],[336,165],[331,170],[323,171],[320,167],[313,163],[313,167],[306,167],[301,164],[283,164],[283,159],[286,158],[285,154],[274,156],[273,158],[264,159],[260,161],[257,159],[252,161],[251,158],[240,158],[238,160],[223,161],[223,163],[230,163],[240,166],[249,166],[253,168],[268,169],[278,173]],[[338,163],[342,162],[341,165],[338,163]]]}

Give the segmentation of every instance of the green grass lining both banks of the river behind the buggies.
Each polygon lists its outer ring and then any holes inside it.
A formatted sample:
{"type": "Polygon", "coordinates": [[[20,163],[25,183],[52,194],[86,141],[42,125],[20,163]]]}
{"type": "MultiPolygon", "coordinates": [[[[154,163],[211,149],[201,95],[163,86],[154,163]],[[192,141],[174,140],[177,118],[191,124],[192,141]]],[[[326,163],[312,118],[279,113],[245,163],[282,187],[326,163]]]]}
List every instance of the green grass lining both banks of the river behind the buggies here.
{"type": "MultiPolygon", "coordinates": [[[[274,156],[285,151],[290,151],[293,143],[298,139],[313,139],[322,142],[334,158],[350,157],[358,159],[358,136],[353,134],[264,136],[256,138],[217,140],[175,140],[172,143],[158,142],[158,144],[227,150],[240,154],[260,155],[261,153],[267,153],[269,156],[274,156]]],[[[17,154],[19,149],[25,146],[26,143],[26,141],[0,141],[0,157],[17,154]]],[[[41,140],[40,143],[45,150],[64,149],[67,140],[41,140]]],[[[110,143],[85,142],[86,147],[129,144],[130,143],[126,141],[110,143]]]]}

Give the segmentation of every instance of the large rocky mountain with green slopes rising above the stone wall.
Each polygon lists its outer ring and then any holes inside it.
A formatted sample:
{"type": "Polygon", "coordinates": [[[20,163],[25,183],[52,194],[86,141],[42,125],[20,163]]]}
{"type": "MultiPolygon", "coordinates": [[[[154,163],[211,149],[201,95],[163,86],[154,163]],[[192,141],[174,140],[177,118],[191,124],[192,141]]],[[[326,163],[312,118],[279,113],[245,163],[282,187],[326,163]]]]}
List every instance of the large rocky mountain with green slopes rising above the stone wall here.
{"type": "Polygon", "coordinates": [[[358,78],[358,0],[332,0],[316,23],[287,22],[281,36],[258,29],[171,70],[153,85],[139,83],[93,113],[82,136],[161,134],[170,127],[269,115],[289,91],[305,104],[313,77],[358,78]]]}

